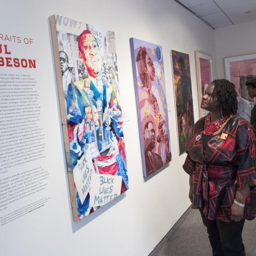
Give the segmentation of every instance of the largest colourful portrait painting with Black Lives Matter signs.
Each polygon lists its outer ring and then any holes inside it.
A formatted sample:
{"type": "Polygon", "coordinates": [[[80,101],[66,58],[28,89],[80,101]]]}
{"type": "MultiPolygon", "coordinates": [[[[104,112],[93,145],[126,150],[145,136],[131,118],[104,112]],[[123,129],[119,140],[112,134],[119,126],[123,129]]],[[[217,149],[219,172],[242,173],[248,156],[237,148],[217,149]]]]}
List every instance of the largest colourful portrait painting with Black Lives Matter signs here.
{"type": "Polygon", "coordinates": [[[73,219],[128,186],[115,33],[50,17],[73,219]]]}

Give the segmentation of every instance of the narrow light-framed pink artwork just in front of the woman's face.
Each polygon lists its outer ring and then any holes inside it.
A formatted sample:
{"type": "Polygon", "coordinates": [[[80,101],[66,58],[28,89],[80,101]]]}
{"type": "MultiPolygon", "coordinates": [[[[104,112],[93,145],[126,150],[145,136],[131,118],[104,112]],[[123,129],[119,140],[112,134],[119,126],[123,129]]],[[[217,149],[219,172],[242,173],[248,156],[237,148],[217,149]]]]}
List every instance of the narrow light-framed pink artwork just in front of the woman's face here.
{"type": "Polygon", "coordinates": [[[207,87],[212,82],[212,56],[208,53],[196,50],[195,59],[199,117],[202,118],[206,116],[208,112],[201,108],[201,100],[207,87]]]}

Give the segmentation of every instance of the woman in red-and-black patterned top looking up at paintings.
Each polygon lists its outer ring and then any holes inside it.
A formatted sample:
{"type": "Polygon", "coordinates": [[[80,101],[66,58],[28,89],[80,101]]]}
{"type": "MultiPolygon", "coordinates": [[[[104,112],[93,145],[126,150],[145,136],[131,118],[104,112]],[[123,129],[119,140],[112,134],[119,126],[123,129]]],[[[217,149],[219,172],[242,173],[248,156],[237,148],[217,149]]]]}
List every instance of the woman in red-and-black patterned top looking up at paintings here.
{"type": "Polygon", "coordinates": [[[245,255],[245,219],[256,217],[256,139],[237,115],[235,85],[214,80],[202,97],[209,111],[193,127],[183,169],[189,198],[207,228],[213,256],[245,255]]]}

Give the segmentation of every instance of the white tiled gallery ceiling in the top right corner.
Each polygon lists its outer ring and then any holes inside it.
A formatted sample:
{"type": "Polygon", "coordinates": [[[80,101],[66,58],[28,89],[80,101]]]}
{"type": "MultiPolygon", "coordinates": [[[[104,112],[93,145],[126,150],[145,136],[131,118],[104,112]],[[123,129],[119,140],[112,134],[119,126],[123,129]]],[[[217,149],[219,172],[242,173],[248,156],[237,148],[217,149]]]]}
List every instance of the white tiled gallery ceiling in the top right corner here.
{"type": "Polygon", "coordinates": [[[256,0],[174,0],[212,28],[256,20],[256,0]]]}

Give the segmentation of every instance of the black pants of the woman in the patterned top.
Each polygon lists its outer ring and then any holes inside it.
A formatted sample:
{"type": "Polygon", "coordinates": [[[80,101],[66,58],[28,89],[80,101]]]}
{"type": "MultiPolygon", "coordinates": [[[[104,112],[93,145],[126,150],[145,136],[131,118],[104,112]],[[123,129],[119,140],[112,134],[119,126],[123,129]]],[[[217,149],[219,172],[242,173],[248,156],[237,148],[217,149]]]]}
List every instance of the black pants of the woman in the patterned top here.
{"type": "Polygon", "coordinates": [[[245,220],[238,222],[208,220],[202,210],[199,211],[207,228],[213,256],[245,256],[242,240],[245,220]]]}

